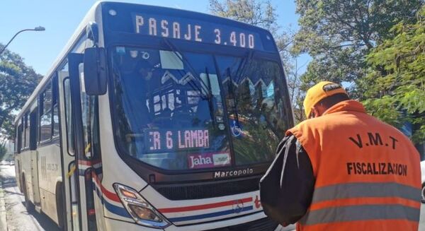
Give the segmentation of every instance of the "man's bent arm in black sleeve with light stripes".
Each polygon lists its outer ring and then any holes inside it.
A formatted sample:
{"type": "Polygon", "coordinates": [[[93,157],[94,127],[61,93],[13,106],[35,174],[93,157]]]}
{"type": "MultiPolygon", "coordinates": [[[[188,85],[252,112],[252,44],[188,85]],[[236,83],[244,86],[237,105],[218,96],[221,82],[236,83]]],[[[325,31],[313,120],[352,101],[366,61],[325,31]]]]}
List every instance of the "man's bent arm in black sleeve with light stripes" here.
{"type": "Polygon", "coordinates": [[[281,225],[296,223],[310,207],[313,190],[310,159],[295,136],[286,136],[279,143],[275,160],[260,179],[263,211],[281,225]]]}

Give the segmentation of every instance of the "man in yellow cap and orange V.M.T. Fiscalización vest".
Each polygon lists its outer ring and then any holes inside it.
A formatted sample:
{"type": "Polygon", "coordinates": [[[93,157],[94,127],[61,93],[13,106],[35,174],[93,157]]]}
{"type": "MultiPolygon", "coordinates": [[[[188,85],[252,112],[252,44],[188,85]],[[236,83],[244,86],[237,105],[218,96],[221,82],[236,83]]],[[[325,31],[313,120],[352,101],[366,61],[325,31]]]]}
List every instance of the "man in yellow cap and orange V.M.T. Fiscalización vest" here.
{"type": "Polygon", "coordinates": [[[419,153],[366,114],[341,86],[307,91],[305,122],[289,129],[260,181],[264,213],[305,230],[418,230],[419,153]]]}

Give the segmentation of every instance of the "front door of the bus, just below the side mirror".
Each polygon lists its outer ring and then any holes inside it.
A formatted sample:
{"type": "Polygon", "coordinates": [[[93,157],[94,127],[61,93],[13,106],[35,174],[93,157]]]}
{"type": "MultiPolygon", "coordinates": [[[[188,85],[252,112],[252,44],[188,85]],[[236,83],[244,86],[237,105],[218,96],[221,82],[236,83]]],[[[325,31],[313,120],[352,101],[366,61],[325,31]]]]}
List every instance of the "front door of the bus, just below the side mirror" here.
{"type": "MultiPolygon", "coordinates": [[[[83,54],[69,54],[69,95],[72,119],[74,158],[69,159],[70,201],[73,230],[97,230],[94,209],[94,184],[92,172],[98,167],[100,154],[96,136],[97,97],[86,95],[84,90],[83,54]],[[95,160],[96,157],[96,160],[95,160]],[[78,228],[79,227],[79,228],[78,228]]],[[[65,80],[66,81],[66,80],[65,80]]],[[[96,136],[97,137],[97,136],[96,136]]],[[[65,166],[65,165],[64,165],[65,166]]]]}

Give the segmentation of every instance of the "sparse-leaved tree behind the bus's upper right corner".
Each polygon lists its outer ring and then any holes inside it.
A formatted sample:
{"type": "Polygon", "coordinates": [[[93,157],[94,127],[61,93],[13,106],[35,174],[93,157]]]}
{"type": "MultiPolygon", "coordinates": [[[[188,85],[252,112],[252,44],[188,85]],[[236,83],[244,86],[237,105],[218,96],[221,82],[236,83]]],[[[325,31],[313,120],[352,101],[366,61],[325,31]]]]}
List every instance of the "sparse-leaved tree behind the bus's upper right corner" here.
{"type": "Polygon", "coordinates": [[[301,100],[303,93],[300,91],[301,82],[300,74],[298,73],[302,66],[298,66],[297,56],[290,52],[295,32],[290,28],[287,28],[283,32],[279,32],[280,26],[276,23],[276,8],[273,7],[271,1],[210,0],[210,10],[217,16],[256,25],[272,33],[280,53],[280,58],[282,59],[283,68],[287,75],[291,102],[295,110],[295,121],[302,121],[304,119],[301,100]],[[297,113],[300,111],[302,113],[297,113]]]}

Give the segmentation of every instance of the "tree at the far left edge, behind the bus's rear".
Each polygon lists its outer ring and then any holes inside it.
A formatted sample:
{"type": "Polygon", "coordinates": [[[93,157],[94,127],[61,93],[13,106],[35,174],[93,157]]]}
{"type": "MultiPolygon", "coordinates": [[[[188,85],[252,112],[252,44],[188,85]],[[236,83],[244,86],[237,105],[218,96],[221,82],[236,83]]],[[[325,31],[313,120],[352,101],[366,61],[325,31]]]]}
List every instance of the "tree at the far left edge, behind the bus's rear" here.
{"type": "MultiPolygon", "coordinates": [[[[0,48],[4,45],[0,44],[0,48]]],[[[4,50],[0,54],[0,134],[14,136],[13,118],[25,104],[42,76],[26,66],[18,54],[4,50]]]]}

